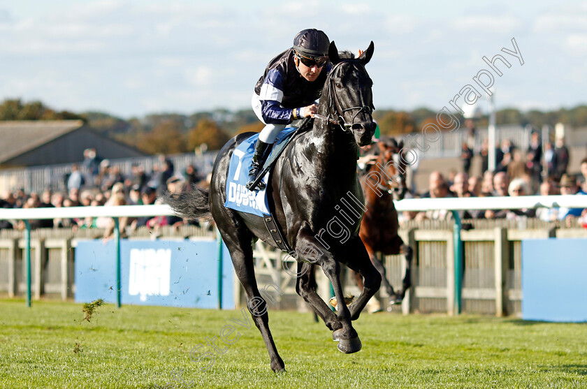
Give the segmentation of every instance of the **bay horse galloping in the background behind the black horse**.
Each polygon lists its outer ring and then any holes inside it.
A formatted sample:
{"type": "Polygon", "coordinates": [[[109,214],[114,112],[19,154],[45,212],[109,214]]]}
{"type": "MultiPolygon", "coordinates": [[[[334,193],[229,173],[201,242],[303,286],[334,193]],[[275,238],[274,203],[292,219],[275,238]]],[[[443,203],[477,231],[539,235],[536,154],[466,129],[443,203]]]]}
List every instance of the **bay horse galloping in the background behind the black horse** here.
{"type": "MultiPolygon", "coordinates": [[[[375,162],[365,168],[361,174],[361,186],[365,194],[365,214],[361,222],[359,236],[369,254],[371,262],[382,276],[382,282],[387,294],[389,304],[402,302],[405,293],[410,286],[412,267],[412,247],[405,244],[398,235],[399,221],[398,211],[393,205],[393,200],[401,200],[407,191],[405,184],[405,158],[400,158],[398,153],[403,150],[403,142],[382,137],[377,142],[379,154],[375,162]],[[380,252],[384,255],[405,255],[405,274],[402,288],[399,291],[393,289],[386,277],[384,264],[375,256],[380,252]]],[[[356,274],[359,288],[363,287],[360,274],[356,274]]]]}

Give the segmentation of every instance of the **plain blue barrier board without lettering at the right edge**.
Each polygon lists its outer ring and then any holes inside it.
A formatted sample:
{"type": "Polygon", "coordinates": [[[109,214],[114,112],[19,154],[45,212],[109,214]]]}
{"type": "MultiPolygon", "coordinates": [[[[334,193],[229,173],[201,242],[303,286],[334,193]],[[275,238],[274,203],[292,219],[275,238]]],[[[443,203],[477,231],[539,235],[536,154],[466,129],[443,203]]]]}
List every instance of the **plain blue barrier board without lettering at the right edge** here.
{"type": "Polygon", "coordinates": [[[522,318],[587,321],[587,239],[522,241],[522,318]]]}

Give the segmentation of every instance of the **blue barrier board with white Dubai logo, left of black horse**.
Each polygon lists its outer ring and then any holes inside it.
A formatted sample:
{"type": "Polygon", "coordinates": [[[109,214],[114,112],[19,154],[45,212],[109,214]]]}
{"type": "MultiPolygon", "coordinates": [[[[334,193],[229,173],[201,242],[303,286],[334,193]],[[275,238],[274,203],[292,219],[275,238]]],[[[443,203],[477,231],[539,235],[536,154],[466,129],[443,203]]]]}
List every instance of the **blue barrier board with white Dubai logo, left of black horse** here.
{"type": "MultiPolygon", "coordinates": [[[[222,307],[233,309],[233,267],[226,246],[222,307]]],[[[219,249],[215,240],[120,240],[122,304],[217,309],[219,249]]],[[[75,301],[116,302],[115,242],[79,240],[75,301]]]]}

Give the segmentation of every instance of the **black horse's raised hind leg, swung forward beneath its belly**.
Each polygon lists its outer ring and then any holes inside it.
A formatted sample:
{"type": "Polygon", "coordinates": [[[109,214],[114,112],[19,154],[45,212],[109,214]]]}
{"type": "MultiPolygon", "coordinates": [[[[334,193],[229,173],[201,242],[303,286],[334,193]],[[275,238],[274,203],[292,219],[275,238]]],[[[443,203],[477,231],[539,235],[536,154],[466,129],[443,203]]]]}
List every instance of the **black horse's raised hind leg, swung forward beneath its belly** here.
{"type": "Polygon", "coordinates": [[[296,292],[305,300],[305,302],[307,302],[307,304],[310,305],[310,307],[312,307],[312,309],[314,309],[314,313],[320,316],[329,330],[338,330],[339,328],[342,328],[342,324],[340,324],[340,321],[334,312],[328,308],[326,302],[324,302],[316,292],[314,268],[314,265],[298,262],[299,275],[296,280],[296,292]]]}

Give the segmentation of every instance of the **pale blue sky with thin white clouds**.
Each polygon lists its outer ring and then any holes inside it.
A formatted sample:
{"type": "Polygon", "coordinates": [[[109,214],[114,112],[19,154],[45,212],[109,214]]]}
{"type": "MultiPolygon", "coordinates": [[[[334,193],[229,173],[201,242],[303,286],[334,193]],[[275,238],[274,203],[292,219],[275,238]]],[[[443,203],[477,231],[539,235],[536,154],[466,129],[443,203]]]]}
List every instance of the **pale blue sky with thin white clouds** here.
{"type": "Polygon", "coordinates": [[[587,103],[587,1],[0,1],[0,98],[125,118],[250,108],[309,27],[340,49],[375,42],[376,108],[440,110],[498,53],[498,108],[587,103]],[[512,38],[523,66],[500,52],[512,38]]]}

